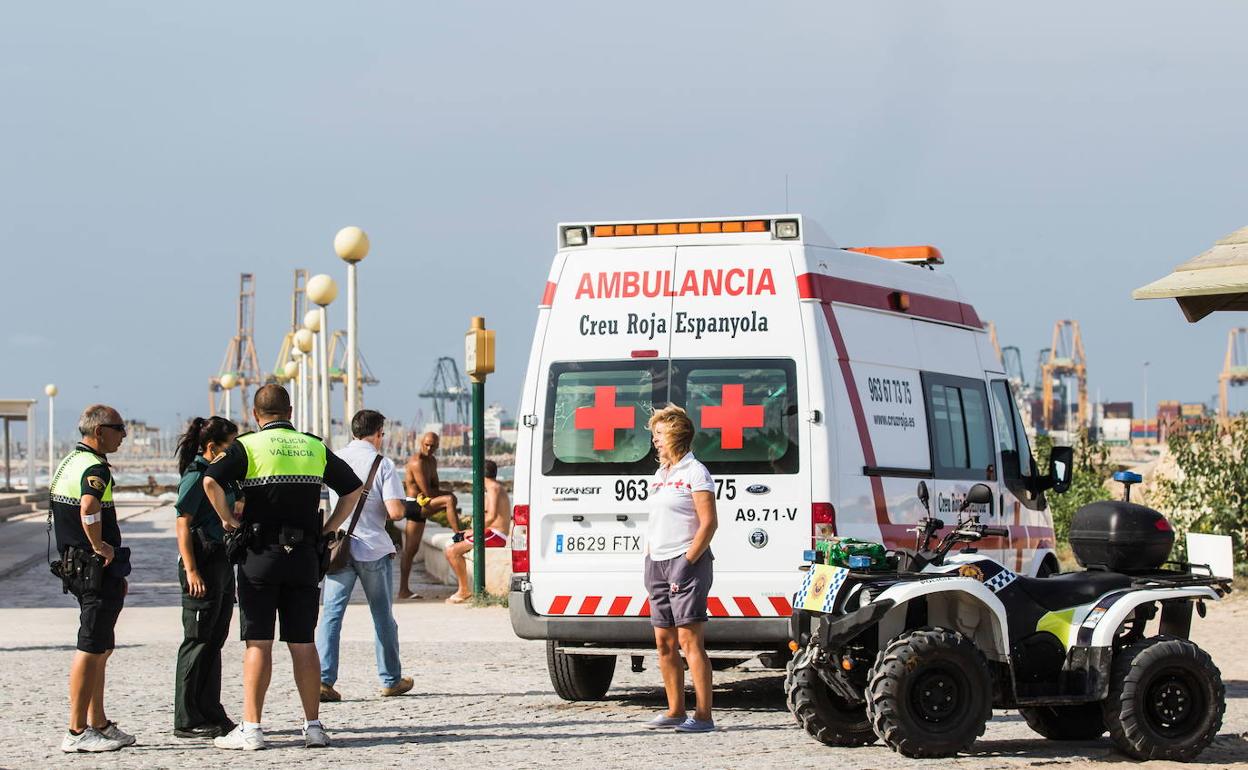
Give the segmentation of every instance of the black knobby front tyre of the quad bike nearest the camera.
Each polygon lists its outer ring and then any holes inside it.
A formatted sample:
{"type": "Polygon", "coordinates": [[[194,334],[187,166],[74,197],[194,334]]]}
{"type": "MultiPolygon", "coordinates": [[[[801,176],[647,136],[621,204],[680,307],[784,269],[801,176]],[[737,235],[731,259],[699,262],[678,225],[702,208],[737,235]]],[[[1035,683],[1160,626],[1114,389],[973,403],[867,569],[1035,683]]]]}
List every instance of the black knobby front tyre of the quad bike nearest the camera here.
{"type": "Polygon", "coordinates": [[[992,675],[962,634],[940,628],[907,631],[876,656],[866,713],[894,751],[953,756],[983,735],[992,716],[992,675]]]}

